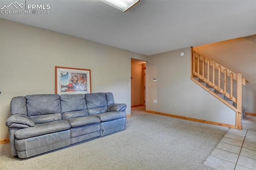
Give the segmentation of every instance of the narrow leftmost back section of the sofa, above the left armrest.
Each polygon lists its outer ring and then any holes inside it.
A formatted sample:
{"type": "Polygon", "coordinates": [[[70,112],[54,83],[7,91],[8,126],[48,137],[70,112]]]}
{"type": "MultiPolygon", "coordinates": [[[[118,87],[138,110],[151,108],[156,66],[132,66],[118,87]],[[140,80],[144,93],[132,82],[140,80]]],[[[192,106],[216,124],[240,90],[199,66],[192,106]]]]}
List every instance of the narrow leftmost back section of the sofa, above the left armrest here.
{"type": "Polygon", "coordinates": [[[26,107],[26,98],[24,96],[18,96],[12,98],[11,101],[11,114],[28,115],[26,107]]]}

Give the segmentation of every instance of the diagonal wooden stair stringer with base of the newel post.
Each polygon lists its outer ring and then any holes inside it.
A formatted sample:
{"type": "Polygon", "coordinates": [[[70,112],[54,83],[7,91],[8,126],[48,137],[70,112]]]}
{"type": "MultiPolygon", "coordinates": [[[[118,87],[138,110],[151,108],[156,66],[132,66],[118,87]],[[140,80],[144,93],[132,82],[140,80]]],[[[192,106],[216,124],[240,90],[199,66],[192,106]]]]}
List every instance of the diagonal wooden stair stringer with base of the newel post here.
{"type": "Polygon", "coordinates": [[[204,90],[208,91],[210,94],[212,94],[215,98],[220,100],[222,103],[224,103],[226,106],[230,107],[230,109],[234,110],[236,112],[236,129],[242,129],[242,113],[238,111],[234,106],[230,105],[226,100],[220,98],[216,93],[209,90],[206,86],[202,85],[200,82],[196,81],[194,78],[190,78],[193,82],[198,84],[200,87],[202,87],[204,90]]]}

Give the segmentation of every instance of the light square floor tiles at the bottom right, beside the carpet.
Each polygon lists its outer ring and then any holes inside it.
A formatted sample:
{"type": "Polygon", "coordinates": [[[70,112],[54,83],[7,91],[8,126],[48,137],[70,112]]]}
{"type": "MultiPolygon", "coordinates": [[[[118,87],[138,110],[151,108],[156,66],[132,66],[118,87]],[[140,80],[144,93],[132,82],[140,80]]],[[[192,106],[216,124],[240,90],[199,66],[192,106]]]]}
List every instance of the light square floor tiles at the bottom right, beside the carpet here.
{"type": "Polygon", "coordinates": [[[256,170],[256,131],[229,129],[204,164],[217,170],[256,170]]]}

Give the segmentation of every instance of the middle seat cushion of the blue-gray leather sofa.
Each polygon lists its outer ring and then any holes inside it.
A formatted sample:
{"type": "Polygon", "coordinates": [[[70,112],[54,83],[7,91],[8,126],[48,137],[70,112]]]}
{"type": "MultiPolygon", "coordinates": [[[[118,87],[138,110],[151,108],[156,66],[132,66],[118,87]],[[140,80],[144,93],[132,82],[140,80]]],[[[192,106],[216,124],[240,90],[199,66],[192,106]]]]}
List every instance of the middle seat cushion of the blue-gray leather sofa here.
{"type": "Polygon", "coordinates": [[[78,127],[83,125],[100,123],[100,118],[96,116],[84,116],[84,117],[67,119],[67,121],[70,123],[71,127],[78,127]]]}

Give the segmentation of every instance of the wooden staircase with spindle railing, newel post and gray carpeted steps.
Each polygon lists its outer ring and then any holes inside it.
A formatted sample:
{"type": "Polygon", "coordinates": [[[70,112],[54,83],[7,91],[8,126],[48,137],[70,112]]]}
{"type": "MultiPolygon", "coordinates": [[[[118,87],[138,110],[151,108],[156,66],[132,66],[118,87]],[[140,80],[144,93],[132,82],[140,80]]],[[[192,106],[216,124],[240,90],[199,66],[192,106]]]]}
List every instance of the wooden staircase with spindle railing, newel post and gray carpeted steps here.
{"type": "Polygon", "coordinates": [[[191,50],[191,80],[236,111],[236,129],[242,129],[242,85],[246,79],[191,50]]]}

